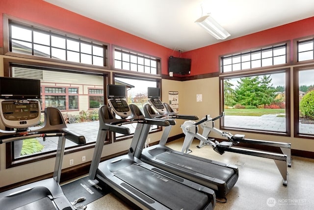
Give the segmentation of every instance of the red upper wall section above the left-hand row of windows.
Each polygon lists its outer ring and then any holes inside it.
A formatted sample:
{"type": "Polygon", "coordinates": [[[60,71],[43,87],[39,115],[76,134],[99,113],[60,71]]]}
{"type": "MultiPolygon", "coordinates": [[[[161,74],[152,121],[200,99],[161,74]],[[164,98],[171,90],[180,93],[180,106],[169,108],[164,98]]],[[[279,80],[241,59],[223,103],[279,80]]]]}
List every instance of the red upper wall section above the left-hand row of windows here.
{"type": "MultiPolygon", "coordinates": [[[[99,23],[43,0],[0,0],[0,47],[3,47],[3,15],[57,28],[91,39],[161,58],[162,74],[168,74],[173,50],[99,23]]],[[[174,55],[176,56],[176,55],[174,55]]]]}

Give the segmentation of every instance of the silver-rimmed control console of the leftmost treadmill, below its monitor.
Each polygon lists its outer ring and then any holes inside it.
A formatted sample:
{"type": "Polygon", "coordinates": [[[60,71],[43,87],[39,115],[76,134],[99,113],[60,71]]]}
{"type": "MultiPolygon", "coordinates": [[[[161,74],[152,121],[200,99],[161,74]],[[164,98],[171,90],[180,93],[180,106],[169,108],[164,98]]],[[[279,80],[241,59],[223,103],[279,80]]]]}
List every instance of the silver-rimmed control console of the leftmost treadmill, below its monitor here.
{"type": "Polygon", "coordinates": [[[7,128],[24,129],[40,122],[40,104],[37,100],[1,100],[0,118],[7,128]]]}

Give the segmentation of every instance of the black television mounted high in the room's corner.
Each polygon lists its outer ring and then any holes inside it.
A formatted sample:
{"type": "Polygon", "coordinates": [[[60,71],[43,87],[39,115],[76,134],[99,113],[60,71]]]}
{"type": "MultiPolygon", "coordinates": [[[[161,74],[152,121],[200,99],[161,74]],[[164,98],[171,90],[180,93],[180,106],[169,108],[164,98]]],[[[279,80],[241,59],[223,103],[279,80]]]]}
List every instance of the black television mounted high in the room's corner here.
{"type": "Polygon", "coordinates": [[[173,74],[188,75],[191,73],[191,59],[170,56],[168,69],[173,74]]]}

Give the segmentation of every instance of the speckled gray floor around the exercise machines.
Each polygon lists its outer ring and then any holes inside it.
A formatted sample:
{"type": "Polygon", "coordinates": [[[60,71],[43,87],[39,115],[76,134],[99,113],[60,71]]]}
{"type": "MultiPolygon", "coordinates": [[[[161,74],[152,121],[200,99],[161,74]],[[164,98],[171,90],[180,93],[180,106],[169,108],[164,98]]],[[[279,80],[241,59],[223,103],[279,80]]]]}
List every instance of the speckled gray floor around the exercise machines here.
{"type": "MultiPolygon", "coordinates": [[[[181,151],[183,139],[167,146],[181,151]]],[[[314,159],[292,157],[288,168],[288,186],[272,159],[225,153],[219,155],[209,146],[197,149],[199,141],[191,146],[195,156],[234,164],[239,168],[239,179],[227,194],[227,203],[217,203],[216,210],[313,210],[314,209],[314,159]]],[[[87,205],[87,210],[132,209],[112,193],[87,205]]]]}

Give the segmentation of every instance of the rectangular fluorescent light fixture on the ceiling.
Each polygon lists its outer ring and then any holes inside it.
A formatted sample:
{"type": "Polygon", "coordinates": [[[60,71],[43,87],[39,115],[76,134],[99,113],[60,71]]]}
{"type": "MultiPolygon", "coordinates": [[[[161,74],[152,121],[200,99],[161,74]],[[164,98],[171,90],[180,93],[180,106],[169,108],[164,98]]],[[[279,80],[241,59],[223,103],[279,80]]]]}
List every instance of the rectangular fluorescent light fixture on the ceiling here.
{"type": "Polygon", "coordinates": [[[221,27],[212,17],[205,15],[195,21],[198,25],[205,28],[216,39],[226,39],[230,33],[221,27]]]}

